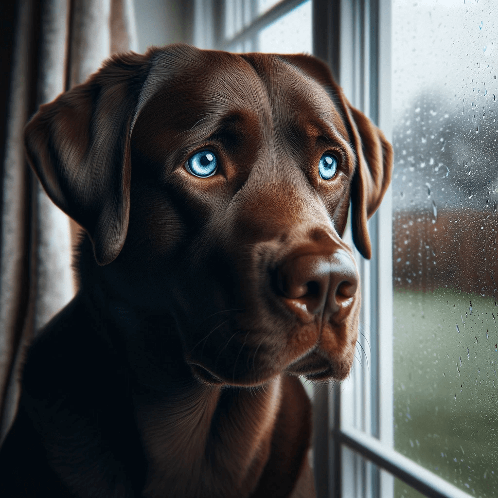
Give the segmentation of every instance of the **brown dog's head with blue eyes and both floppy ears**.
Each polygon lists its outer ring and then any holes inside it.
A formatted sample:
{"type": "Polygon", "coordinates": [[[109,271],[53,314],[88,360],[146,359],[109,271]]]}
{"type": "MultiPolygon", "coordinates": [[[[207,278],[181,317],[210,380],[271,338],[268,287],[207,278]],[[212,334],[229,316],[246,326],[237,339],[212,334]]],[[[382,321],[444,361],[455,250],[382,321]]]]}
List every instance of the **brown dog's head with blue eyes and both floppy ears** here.
{"type": "Polygon", "coordinates": [[[360,290],[342,236],[351,203],[370,257],[392,151],[321,61],[186,45],[115,56],[40,108],[26,148],[102,279],[165,335],[169,317],[195,375],[349,373],[360,290]]]}

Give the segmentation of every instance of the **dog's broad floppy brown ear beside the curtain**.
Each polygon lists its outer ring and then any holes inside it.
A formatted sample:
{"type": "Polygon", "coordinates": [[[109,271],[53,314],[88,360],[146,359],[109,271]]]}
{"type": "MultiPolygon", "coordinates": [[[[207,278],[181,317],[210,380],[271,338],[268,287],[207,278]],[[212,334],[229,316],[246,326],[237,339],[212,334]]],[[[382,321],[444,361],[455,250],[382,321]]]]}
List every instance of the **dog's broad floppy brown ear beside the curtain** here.
{"type": "Polygon", "coordinates": [[[41,106],[24,130],[31,167],[50,199],[87,231],[100,265],[118,256],[128,229],[130,135],[148,59],[113,56],[41,106]]]}

